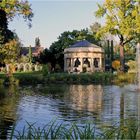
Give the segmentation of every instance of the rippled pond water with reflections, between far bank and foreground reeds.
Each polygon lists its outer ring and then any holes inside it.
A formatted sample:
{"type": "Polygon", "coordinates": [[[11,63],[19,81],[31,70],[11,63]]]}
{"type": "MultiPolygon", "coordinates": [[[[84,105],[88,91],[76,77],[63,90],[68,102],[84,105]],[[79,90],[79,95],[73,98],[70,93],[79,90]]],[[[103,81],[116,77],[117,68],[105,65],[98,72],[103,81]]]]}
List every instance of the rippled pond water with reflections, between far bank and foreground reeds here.
{"type": "Polygon", "coordinates": [[[140,93],[135,85],[37,85],[0,87],[0,132],[6,138],[16,124],[43,127],[51,120],[111,126],[138,119],[140,93]]]}

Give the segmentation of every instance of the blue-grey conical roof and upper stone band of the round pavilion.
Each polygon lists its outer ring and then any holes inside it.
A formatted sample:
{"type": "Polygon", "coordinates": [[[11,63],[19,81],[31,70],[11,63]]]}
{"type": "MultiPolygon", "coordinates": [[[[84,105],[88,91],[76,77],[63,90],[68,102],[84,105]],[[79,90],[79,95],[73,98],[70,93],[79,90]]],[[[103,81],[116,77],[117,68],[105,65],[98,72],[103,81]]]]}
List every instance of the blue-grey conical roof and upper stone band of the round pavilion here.
{"type": "Polygon", "coordinates": [[[104,52],[104,50],[100,46],[92,44],[87,40],[82,40],[64,50],[64,53],[71,52],[104,52]]]}

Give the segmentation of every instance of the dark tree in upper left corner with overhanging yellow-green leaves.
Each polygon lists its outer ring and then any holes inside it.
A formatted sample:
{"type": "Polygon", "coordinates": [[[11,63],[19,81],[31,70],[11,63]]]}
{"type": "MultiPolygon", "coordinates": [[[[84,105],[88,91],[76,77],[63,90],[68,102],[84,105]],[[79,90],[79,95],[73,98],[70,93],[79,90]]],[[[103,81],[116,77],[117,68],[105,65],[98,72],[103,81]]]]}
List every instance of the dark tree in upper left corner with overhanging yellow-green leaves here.
{"type": "Polygon", "coordinates": [[[0,0],[0,44],[13,39],[13,33],[8,30],[8,22],[15,16],[22,16],[31,27],[32,9],[27,0],[0,0]]]}

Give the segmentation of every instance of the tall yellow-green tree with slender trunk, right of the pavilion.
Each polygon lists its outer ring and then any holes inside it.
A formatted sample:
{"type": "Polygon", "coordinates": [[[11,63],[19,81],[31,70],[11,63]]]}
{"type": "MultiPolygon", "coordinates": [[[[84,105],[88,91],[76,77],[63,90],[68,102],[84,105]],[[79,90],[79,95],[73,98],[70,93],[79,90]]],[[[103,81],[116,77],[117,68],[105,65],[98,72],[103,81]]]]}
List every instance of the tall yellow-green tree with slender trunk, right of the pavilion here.
{"type": "Polygon", "coordinates": [[[137,0],[105,0],[103,5],[98,4],[96,17],[105,17],[105,25],[97,32],[97,36],[111,33],[118,36],[120,43],[120,65],[124,71],[124,46],[139,40],[140,17],[137,0]]]}

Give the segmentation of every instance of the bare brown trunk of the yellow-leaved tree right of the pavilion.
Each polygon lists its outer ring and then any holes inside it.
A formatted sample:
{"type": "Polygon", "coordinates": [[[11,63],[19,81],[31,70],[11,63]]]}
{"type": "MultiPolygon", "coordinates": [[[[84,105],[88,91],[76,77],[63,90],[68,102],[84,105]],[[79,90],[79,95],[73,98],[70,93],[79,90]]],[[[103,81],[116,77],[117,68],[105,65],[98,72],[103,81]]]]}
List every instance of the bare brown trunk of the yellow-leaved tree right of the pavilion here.
{"type": "Polygon", "coordinates": [[[124,72],[124,45],[123,43],[120,43],[120,71],[124,72]]]}

